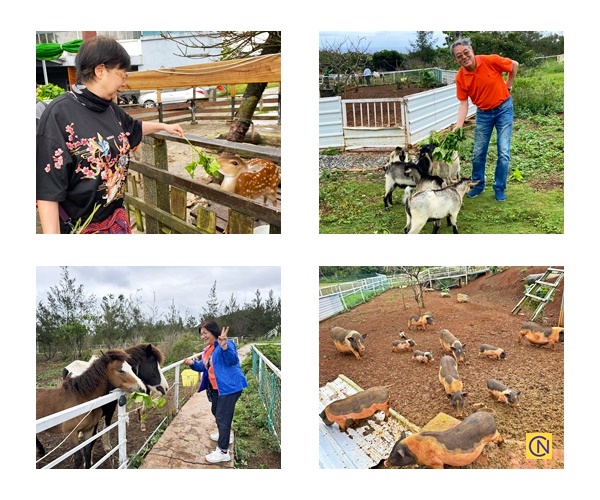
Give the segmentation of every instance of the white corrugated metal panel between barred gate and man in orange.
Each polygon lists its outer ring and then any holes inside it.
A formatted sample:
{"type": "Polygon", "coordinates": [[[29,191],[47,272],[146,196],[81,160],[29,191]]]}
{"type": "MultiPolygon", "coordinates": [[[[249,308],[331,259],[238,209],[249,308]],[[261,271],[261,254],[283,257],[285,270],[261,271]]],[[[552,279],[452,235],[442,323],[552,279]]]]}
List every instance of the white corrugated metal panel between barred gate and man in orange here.
{"type": "MultiPolygon", "coordinates": [[[[456,85],[428,90],[406,97],[408,143],[417,144],[433,131],[443,130],[456,123],[459,101],[456,85]]],[[[477,108],[469,100],[467,116],[477,108]]]]}

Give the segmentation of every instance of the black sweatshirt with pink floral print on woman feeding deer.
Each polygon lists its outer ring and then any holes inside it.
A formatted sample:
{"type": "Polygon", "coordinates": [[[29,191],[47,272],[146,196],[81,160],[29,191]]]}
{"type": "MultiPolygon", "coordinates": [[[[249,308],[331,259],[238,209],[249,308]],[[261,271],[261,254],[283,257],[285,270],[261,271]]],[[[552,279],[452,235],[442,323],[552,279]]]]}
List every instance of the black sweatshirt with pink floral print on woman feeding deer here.
{"type": "Polygon", "coordinates": [[[142,122],[113,101],[74,87],[46,108],[37,129],[36,199],[58,201],[73,223],[110,217],[123,206],[129,151],[142,122]]]}

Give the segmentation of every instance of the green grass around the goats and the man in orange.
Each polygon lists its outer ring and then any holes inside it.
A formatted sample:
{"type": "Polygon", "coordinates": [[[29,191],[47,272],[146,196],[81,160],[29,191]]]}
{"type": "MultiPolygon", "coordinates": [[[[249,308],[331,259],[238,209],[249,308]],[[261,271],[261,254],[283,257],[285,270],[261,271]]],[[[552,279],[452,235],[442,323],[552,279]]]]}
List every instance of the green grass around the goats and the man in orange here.
{"type": "MultiPolygon", "coordinates": [[[[498,203],[492,190],[496,163],[495,133],[487,158],[486,190],[464,199],[458,216],[465,234],[562,234],[564,232],[564,102],[562,65],[536,68],[515,83],[515,122],[507,200],[498,203]]],[[[465,126],[460,146],[461,171],[471,174],[474,122],[465,126]]],[[[351,153],[346,153],[351,154],[351,153]]],[[[414,153],[413,153],[414,154],[414,153]]],[[[386,156],[382,153],[382,157],[386,156]]],[[[384,209],[382,170],[328,170],[320,174],[322,234],[403,233],[406,213],[402,190],[384,209]]],[[[422,233],[432,231],[427,223],[422,233]]],[[[452,233],[444,222],[440,233],[452,233]]]]}

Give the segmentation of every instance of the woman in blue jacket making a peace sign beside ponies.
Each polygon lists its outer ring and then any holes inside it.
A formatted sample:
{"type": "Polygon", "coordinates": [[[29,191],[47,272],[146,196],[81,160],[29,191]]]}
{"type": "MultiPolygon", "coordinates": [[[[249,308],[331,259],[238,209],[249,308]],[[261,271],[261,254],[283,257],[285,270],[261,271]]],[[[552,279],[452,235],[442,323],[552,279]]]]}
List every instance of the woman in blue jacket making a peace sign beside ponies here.
{"type": "Polygon", "coordinates": [[[232,340],[227,339],[229,327],[220,330],[215,321],[204,321],[198,328],[205,348],[200,360],[186,358],[183,362],[192,370],[202,373],[198,392],[206,389],[206,395],[211,402],[211,412],[217,422],[218,432],[210,438],[217,441],[217,448],[206,455],[211,463],[228,462],[231,424],[235,404],[248,387],[248,382],[242,367],[237,349],[232,340]]]}

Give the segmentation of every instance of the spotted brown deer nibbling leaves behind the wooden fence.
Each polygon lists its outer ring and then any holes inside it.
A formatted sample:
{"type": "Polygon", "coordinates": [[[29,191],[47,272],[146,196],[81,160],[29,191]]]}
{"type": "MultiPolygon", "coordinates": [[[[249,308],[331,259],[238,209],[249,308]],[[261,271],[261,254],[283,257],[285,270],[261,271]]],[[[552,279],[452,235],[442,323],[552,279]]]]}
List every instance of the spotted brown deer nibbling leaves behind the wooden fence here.
{"type": "Polygon", "coordinates": [[[248,162],[238,155],[222,153],[217,162],[224,176],[221,189],[252,200],[263,197],[277,206],[277,187],[281,179],[280,168],[272,161],[254,158],[248,162]]]}

